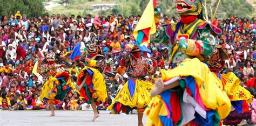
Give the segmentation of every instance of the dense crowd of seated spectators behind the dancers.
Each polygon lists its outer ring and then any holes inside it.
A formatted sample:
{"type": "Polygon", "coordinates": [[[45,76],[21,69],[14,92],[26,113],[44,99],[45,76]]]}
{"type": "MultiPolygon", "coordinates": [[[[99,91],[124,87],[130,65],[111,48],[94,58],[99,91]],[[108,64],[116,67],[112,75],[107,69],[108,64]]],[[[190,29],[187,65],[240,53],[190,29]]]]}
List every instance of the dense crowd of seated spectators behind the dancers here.
{"type": "MultiPolygon", "coordinates": [[[[28,19],[24,13],[19,11],[10,17],[2,16],[0,22],[0,109],[48,109],[47,104],[39,99],[46,79],[39,79],[33,75],[33,66],[37,60],[44,60],[49,52],[56,53],[64,60],[72,62],[69,58],[70,53],[77,43],[80,43],[80,51],[83,55],[87,54],[87,44],[97,44],[102,47],[106,60],[103,75],[109,100],[100,107],[105,109],[129,78],[125,74],[126,68],[119,66],[118,61],[113,60],[112,52],[123,50],[126,43],[129,43],[139,19],[139,15],[130,17],[87,15],[83,18],[59,14],[28,19]],[[114,76],[105,74],[107,72],[113,73],[114,76]]],[[[160,24],[178,21],[175,17],[164,15],[160,24]]],[[[161,25],[158,30],[161,29],[161,25]]],[[[232,16],[219,20],[219,27],[223,30],[223,34],[217,37],[218,44],[230,56],[221,73],[232,71],[240,78],[241,86],[256,88],[254,77],[256,18],[232,16]]],[[[169,50],[167,47],[151,41],[151,57],[157,71],[154,75],[147,75],[146,80],[154,83],[161,77],[159,69],[172,67],[168,55],[164,55],[169,50]]],[[[83,66],[83,62],[77,60],[72,62],[72,67],[65,67],[75,85],[83,66]]],[[[85,110],[90,109],[90,104],[83,103],[79,94],[70,92],[63,101],[56,100],[55,107],[64,110],[85,110]]]]}

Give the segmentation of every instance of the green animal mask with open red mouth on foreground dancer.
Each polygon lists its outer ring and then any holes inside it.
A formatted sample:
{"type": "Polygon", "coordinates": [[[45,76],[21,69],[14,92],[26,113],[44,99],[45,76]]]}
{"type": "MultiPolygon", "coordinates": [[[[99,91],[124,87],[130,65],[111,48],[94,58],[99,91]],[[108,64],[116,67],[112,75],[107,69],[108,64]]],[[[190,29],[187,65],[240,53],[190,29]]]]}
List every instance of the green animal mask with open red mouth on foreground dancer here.
{"type": "Polygon", "coordinates": [[[202,11],[201,0],[177,0],[176,11],[181,16],[199,15],[202,11]]]}

